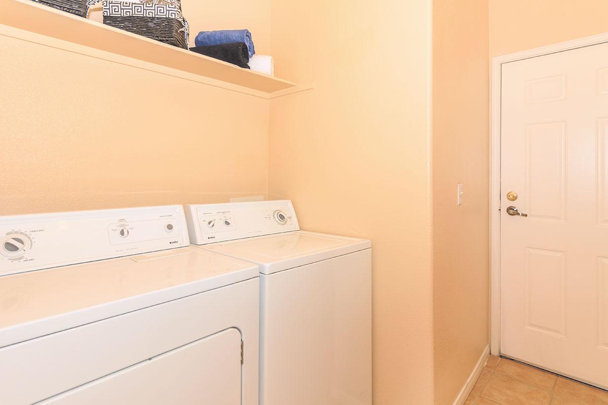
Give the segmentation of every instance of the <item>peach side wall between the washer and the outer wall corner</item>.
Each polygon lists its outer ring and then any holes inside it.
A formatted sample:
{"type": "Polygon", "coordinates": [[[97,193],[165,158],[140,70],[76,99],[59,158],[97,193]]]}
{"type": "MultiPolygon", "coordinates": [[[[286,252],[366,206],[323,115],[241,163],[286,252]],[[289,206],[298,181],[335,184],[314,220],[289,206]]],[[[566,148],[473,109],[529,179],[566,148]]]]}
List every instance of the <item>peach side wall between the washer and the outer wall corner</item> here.
{"type": "Polygon", "coordinates": [[[429,2],[272,1],[269,194],[373,246],[375,405],[432,404],[429,2]]]}

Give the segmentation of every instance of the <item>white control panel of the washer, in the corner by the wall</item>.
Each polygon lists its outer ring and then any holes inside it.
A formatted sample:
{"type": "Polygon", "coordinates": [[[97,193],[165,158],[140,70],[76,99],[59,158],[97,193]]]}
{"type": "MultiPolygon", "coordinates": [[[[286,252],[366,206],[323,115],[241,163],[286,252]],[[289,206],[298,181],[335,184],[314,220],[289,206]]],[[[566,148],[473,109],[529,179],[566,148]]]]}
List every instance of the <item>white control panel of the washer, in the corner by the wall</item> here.
{"type": "Polygon", "coordinates": [[[300,230],[289,200],[186,205],[186,220],[195,245],[300,230]]]}

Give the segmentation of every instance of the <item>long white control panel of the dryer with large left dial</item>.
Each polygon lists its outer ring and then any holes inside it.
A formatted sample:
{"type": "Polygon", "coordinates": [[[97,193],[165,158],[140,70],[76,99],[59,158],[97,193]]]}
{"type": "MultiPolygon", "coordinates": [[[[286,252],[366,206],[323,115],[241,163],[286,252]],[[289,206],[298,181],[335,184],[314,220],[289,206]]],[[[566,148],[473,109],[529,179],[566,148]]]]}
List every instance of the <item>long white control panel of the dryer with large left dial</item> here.
{"type": "Polygon", "coordinates": [[[0,217],[0,276],[189,243],[181,205],[0,217]]]}

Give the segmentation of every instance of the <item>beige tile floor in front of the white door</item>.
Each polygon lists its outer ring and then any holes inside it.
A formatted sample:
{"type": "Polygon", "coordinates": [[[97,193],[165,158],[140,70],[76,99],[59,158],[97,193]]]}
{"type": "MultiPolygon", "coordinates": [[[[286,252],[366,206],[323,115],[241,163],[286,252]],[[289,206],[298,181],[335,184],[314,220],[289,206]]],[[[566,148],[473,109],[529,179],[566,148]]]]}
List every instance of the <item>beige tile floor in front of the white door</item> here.
{"type": "Polygon", "coordinates": [[[490,356],[465,405],[608,405],[608,392],[490,356]]]}

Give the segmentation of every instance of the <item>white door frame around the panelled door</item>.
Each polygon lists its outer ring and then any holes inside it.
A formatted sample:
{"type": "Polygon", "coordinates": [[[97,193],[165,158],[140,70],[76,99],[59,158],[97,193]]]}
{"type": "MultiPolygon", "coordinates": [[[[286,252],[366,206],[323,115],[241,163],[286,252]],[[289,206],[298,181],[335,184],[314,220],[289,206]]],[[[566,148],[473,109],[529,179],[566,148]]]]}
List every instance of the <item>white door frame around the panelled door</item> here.
{"type": "Polygon", "coordinates": [[[572,39],[492,58],[490,81],[490,350],[500,355],[500,83],[502,65],[550,53],[608,43],[608,33],[572,39]]]}

